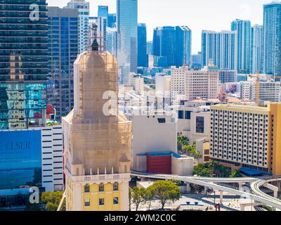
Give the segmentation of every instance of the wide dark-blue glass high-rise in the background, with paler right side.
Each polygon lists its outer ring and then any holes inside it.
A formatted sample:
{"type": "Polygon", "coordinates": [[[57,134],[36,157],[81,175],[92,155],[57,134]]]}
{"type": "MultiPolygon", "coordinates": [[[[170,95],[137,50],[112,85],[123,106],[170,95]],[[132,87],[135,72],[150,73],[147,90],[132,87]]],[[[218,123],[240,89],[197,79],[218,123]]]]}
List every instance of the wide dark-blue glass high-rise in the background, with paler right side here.
{"type": "Polygon", "coordinates": [[[155,28],[152,54],[166,57],[168,67],[190,65],[191,30],[187,26],[155,28]]]}

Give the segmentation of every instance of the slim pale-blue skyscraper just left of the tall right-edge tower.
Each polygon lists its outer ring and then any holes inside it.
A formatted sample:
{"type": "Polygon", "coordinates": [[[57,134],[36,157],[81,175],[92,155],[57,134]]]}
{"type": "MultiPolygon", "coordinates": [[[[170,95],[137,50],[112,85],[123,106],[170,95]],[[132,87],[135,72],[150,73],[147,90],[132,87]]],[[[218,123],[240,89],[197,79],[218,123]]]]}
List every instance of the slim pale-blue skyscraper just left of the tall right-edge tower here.
{"type": "Polygon", "coordinates": [[[263,26],[251,27],[251,73],[263,72],[263,26]]]}

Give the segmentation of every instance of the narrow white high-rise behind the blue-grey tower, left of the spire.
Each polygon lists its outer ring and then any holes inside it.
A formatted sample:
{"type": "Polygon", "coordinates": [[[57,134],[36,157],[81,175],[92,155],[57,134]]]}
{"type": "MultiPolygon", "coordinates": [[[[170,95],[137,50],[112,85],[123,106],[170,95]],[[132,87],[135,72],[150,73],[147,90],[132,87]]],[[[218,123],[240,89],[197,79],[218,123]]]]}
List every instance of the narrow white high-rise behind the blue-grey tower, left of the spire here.
{"type": "Polygon", "coordinates": [[[67,3],[68,8],[79,10],[79,53],[88,50],[89,40],[89,14],[90,3],[85,0],[71,0],[67,3]]]}

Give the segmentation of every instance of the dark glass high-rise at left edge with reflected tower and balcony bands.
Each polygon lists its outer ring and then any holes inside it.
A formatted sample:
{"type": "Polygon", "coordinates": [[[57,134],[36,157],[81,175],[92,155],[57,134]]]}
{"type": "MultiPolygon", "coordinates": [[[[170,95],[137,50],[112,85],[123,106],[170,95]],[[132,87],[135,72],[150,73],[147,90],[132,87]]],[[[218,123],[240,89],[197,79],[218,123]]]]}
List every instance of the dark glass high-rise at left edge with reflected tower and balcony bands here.
{"type": "Polygon", "coordinates": [[[46,0],[0,0],[0,129],[46,124],[46,0]]]}

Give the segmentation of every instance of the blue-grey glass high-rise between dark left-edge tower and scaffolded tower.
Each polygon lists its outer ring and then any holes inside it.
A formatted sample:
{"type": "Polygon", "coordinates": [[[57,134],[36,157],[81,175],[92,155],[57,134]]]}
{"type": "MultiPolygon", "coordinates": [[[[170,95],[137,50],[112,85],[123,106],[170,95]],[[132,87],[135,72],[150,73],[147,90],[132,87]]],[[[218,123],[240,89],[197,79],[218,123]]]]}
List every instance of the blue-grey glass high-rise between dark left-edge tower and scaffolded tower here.
{"type": "Polygon", "coordinates": [[[48,7],[48,103],[57,120],[73,108],[73,64],[78,56],[78,9],[48,7]]]}

